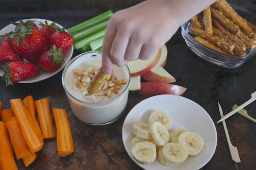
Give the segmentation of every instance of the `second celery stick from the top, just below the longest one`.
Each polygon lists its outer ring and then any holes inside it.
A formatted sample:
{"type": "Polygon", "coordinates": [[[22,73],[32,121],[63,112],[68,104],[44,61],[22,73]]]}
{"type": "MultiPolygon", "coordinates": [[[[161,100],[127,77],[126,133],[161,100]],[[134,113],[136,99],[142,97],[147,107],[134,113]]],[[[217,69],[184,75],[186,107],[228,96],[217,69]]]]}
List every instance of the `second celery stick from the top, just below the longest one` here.
{"type": "Polygon", "coordinates": [[[107,28],[108,21],[109,20],[103,21],[102,23],[99,23],[99,24],[97,24],[95,26],[92,26],[90,28],[87,28],[87,29],[85,29],[83,31],[80,31],[80,32],[74,34],[73,35],[74,43],[76,43],[76,42],[78,42],[80,40],[83,40],[84,38],[89,37],[90,35],[93,35],[96,32],[99,32],[99,31],[107,28]]]}

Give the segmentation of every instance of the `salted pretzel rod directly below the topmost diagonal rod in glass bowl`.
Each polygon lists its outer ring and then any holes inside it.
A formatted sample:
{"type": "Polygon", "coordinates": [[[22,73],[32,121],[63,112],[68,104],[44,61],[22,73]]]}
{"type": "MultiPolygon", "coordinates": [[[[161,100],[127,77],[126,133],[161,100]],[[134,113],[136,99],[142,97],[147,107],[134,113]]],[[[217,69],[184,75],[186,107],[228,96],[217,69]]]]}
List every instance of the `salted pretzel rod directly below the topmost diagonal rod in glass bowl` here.
{"type": "Polygon", "coordinates": [[[234,35],[238,36],[240,33],[239,27],[234,24],[232,21],[227,19],[220,11],[216,10],[215,8],[210,8],[212,16],[215,17],[223,26],[225,26],[230,32],[234,35]]]}

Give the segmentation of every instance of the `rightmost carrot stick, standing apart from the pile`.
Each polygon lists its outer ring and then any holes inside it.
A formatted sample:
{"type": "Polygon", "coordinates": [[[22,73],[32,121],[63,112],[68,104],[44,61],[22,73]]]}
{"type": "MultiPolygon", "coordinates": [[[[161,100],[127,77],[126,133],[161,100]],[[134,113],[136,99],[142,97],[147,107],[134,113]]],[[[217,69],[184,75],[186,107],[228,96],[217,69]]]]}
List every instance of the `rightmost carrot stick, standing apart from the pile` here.
{"type": "Polygon", "coordinates": [[[65,109],[52,108],[56,129],[58,156],[67,156],[74,152],[73,138],[65,109]]]}

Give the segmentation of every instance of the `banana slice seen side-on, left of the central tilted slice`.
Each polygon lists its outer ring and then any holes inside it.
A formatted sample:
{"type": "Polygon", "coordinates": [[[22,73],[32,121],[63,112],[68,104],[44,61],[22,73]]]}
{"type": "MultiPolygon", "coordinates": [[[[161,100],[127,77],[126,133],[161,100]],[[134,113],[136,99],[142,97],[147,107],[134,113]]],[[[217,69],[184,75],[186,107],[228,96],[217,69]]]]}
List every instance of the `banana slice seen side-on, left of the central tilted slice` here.
{"type": "Polygon", "coordinates": [[[152,139],[150,126],[143,122],[134,123],[132,133],[139,138],[152,139]]]}

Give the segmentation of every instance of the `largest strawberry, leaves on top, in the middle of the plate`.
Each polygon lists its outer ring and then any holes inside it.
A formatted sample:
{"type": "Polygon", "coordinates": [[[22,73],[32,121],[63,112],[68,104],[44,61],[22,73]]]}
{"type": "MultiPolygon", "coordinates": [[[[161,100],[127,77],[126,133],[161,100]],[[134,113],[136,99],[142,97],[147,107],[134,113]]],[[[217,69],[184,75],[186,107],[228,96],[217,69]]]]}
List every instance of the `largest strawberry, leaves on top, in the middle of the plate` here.
{"type": "Polygon", "coordinates": [[[20,26],[10,35],[11,44],[15,51],[28,62],[38,63],[41,54],[47,50],[43,35],[33,26],[20,26]]]}

